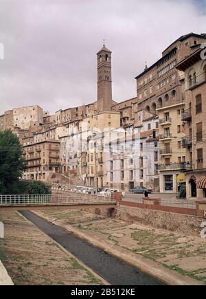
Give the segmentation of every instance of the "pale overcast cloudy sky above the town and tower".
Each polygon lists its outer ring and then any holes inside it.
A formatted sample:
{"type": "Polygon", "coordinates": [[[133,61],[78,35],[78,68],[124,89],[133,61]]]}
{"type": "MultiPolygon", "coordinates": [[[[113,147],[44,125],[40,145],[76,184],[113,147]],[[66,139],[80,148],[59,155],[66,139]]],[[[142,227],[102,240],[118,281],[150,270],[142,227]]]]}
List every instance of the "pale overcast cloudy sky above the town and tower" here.
{"type": "Polygon", "coordinates": [[[171,41],[206,32],[205,0],[0,0],[0,113],[38,104],[52,113],[96,100],[96,53],[113,52],[113,99],[171,41]]]}

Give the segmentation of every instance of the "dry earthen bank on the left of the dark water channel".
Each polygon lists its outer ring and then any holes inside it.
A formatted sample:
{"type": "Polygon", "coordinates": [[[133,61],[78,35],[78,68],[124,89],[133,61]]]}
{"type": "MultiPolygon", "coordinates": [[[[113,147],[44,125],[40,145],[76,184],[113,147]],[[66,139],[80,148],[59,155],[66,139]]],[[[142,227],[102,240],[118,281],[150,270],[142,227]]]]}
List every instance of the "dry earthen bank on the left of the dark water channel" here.
{"type": "Polygon", "coordinates": [[[0,212],[0,260],[14,285],[102,285],[76,258],[17,212],[0,212]]]}

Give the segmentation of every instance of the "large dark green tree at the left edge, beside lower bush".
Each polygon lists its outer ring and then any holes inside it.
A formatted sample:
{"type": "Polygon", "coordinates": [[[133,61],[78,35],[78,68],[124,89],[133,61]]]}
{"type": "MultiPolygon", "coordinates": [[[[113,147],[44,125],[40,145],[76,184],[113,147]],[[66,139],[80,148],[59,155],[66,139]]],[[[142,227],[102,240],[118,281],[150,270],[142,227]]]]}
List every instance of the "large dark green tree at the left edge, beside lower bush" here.
{"type": "Polygon", "coordinates": [[[0,132],[0,194],[18,193],[26,168],[19,138],[10,130],[0,132]]]}

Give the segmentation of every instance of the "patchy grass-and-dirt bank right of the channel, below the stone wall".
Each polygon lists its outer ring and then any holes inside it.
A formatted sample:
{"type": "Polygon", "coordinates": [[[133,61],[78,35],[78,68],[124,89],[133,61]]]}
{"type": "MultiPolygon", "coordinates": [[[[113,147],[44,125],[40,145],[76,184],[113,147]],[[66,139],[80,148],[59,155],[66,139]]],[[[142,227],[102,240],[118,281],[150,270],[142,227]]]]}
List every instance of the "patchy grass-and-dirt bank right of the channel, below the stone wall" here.
{"type": "Polygon", "coordinates": [[[66,224],[75,226],[87,236],[95,236],[102,242],[122,247],[137,256],[149,258],[165,268],[173,269],[206,285],[206,239],[131,224],[118,219],[103,219],[83,210],[41,212],[53,220],[60,219],[66,224]]]}

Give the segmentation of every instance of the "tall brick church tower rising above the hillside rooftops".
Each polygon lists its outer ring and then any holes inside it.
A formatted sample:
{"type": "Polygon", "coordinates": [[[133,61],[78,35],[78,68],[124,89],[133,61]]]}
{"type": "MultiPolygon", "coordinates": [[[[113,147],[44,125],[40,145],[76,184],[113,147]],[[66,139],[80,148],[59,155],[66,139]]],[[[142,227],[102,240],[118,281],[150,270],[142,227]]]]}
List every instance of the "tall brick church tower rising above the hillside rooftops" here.
{"type": "Polygon", "coordinates": [[[111,80],[111,51],[103,45],[98,52],[98,110],[109,111],[113,104],[111,80]]]}

